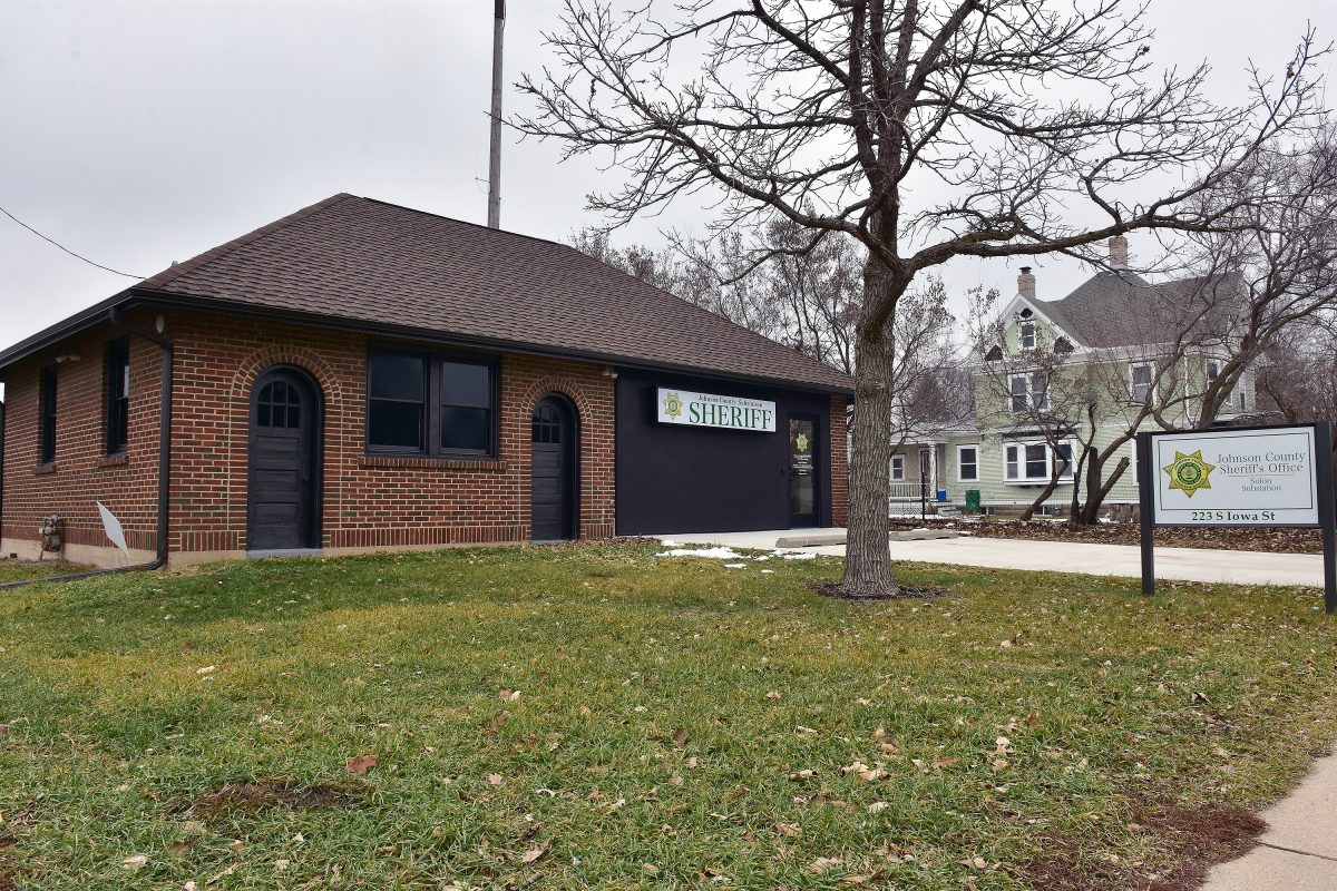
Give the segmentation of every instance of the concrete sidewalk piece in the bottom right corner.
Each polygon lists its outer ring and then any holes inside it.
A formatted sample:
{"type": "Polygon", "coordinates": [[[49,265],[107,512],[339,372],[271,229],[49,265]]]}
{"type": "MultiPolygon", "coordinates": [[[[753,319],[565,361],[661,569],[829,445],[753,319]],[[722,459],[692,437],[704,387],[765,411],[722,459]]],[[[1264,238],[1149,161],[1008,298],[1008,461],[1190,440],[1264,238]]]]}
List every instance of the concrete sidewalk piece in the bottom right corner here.
{"type": "Polygon", "coordinates": [[[1337,757],[1314,763],[1294,792],[1259,816],[1258,847],[1211,868],[1202,891],[1332,891],[1337,888],[1337,757]]]}

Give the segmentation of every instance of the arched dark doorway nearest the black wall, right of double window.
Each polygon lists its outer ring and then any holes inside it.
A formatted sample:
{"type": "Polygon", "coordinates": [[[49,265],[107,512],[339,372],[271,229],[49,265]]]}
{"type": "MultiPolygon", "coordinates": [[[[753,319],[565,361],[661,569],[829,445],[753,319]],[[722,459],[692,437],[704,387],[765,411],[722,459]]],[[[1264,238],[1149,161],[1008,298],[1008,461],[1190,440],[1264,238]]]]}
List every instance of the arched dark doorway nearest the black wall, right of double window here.
{"type": "Polygon", "coordinates": [[[529,536],[535,541],[576,538],[580,532],[580,425],[562,395],[533,406],[529,443],[529,536]]]}

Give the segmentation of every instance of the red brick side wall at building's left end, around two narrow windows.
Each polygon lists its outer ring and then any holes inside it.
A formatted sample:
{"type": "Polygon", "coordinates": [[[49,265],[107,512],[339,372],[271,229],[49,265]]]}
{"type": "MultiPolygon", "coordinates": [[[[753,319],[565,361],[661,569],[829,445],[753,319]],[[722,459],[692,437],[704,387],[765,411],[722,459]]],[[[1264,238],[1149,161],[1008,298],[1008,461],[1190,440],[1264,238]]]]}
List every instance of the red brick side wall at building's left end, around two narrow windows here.
{"type": "MultiPolygon", "coordinates": [[[[140,319],[143,321],[143,319],[140,319]]],[[[62,342],[5,374],[4,516],[0,538],[37,538],[47,516],[66,518],[71,545],[106,546],[95,502],[126,529],[131,548],[156,548],[160,351],[130,342],[130,435],[124,457],[106,456],[106,345],[122,331],[102,325],[62,342]],[[56,460],[37,464],[40,370],[56,357],[56,460]]]]}

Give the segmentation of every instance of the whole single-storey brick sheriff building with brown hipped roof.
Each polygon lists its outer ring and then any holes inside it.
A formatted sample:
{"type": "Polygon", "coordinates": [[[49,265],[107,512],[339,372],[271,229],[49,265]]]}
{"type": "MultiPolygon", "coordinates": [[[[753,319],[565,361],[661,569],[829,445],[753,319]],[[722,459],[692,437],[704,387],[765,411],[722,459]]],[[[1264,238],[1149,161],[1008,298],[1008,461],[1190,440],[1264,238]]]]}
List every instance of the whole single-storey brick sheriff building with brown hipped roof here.
{"type": "Polygon", "coordinates": [[[98,502],[172,565],[845,522],[845,375],[571,247],[352,195],[0,379],[3,556],[56,516],[67,558],[123,564],[98,502]]]}

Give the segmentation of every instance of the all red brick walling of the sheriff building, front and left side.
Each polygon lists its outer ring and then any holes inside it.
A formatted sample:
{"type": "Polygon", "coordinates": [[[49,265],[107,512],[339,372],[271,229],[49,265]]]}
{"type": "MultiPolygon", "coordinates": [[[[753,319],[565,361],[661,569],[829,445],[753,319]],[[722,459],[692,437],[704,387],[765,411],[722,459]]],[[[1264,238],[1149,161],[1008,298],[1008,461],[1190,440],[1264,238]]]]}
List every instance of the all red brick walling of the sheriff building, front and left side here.
{"type": "MultiPolygon", "coordinates": [[[[148,327],[152,313],[131,321],[148,327]]],[[[392,548],[529,538],[529,418],[548,393],[580,415],[580,534],[615,530],[614,381],[590,362],[503,353],[500,453],[495,461],[369,457],[365,442],[368,338],[206,313],[166,313],[175,343],[171,533],[179,552],[246,548],[251,385],[274,365],[306,370],[324,395],[322,546],[392,548]]],[[[95,501],[111,508],[131,548],[152,550],[156,518],[159,350],[131,339],[130,446],[103,456],[104,343],[110,325],[72,338],[7,374],[4,505],[0,529],[31,541],[47,514],[68,521],[68,541],[106,546],[95,501]],[[56,355],[53,469],[37,466],[37,379],[56,355]]],[[[384,341],[376,341],[384,342],[384,341]]],[[[845,399],[832,399],[832,518],[846,517],[845,399]]]]}

